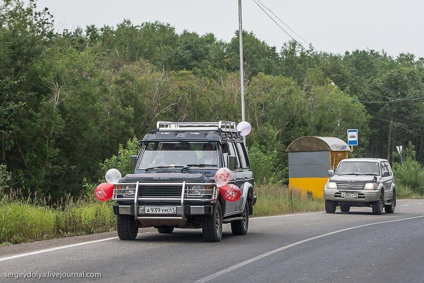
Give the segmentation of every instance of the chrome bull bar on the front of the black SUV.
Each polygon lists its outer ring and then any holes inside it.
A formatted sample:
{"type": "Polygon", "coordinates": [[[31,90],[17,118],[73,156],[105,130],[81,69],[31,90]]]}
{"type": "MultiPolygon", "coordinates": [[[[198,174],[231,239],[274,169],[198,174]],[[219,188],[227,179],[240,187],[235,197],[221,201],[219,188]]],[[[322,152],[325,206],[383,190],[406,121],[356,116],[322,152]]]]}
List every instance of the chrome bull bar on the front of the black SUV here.
{"type": "MultiPolygon", "coordinates": [[[[114,192],[112,200],[115,202],[119,201],[133,201],[134,202],[134,218],[145,219],[145,220],[186,220],[185,215],[185,203],[187,200],[193,200],[196,202],[214,202],[218,198],[218,190],[216,184],[214,183],[188,183],[188,182],[174,182],[174,183],[151,183],[151,182],[135,182],[135,183],[116,183],[114,184],[114,192]],[[199,197],[193,195],[193,186],[202,186],[202,193],[199,197]],[[178,196],[149,196],[149,197],[139,197],[140,188],[144,187],[150,188],[162,188],[170,186],[178,186],[181,193],[178,193],[178,196]],[[211,186],[211,188],[205,188],[205,186],[211,186]],[[205,196],[209,196],[205,198],[205,196]],[[179,210],[179,216],[139,216],[139,208],[144,207],[144,205],[139,205],[139,202],[146,201],[178,201],[180,206],[177,206],[177,211],[179,210]],[[178,209],[179,208],[179,209],[178,209]]],[[[198,190],[198,189],[196,189],[198,190]]],[[[162,192],[163,194],[163,192],[162,192]]],[[[175,191],[174,191],[175,194],[175,191]]],[[[125,206],[122,206],[124,208],[125,206]]],[[[128,207],[130,211],[130,207],[128,207]]]]}

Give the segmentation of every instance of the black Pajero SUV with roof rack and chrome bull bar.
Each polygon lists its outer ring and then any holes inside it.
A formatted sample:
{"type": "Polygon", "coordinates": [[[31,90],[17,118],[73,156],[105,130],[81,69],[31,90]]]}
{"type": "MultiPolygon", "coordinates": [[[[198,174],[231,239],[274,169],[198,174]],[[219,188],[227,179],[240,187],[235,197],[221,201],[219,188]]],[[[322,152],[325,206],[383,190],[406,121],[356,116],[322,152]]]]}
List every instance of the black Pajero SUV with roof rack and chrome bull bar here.
{"type": "Polygon", "coordinates": [[[235,122],[157,122],[146,134],[138,155],[131,157],[133,174],[115,184],[118,236],[134,240],[139,227],[159,233],[174,228],[202,228],[205,241],[217,242],[223,223],[233,235],[245,235],[256,196],[243,137],[235,122]],[[242,197],[228,202],[219,194],[215,172],[227,167],[230,183],[242,197]]]}

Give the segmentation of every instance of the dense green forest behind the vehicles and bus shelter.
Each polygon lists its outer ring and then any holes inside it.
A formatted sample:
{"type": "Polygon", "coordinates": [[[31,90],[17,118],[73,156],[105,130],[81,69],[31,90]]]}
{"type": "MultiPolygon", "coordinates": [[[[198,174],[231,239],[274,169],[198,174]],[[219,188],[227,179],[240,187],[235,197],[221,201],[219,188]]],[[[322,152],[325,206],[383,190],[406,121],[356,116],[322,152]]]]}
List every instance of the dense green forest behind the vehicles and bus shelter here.
{"type": "MultiPolygon", "coordinates": [[[[424,58],[243,36],[257,184],[287,183],[291,141],[358,129],[349,157],[388,158],[402,185],[424,193],[424,58]]],[[[91,193],[110,166],[128,173],[158,120],[240,121],[238,51],[237,32],[223,42],[159,22],[58,32],[36,1],[0,1],[0,197],[91,193]]]]}

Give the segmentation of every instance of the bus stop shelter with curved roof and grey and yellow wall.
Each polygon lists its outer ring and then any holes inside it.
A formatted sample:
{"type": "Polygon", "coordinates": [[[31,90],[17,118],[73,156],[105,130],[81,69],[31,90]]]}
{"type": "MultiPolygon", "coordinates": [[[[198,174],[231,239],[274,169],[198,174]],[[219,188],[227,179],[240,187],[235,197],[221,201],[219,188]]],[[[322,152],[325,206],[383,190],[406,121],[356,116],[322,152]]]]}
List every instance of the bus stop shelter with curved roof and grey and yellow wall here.
{"type": "Polygon", "coordinates": [[[294,140],[286,149],[289,187],[322,198],[328,170],[334,170],[349,151],[349,146],[337,137],[304,136],[294,140]]]}

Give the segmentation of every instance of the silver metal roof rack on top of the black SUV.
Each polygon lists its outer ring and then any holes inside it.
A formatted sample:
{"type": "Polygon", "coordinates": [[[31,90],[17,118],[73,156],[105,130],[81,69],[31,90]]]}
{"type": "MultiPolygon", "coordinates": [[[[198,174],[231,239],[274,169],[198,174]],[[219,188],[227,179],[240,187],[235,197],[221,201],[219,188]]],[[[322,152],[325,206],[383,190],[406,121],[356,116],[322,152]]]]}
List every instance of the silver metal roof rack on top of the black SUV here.
{"type": "Polygon", "coordinates": [[[222,131],[237,133],[235,122],[167,122],[158,121],[156,124],[158,131],[222,131]]]}

